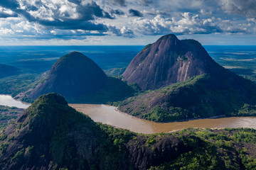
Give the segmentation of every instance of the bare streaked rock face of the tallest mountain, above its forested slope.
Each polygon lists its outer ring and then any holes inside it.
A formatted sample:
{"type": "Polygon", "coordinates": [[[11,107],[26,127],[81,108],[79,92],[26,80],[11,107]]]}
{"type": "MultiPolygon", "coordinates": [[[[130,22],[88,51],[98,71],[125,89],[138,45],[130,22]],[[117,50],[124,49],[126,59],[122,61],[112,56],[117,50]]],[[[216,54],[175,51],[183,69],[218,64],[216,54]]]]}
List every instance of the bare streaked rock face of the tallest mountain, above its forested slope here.
{"type": "Polygon", "coordinates": [[[159,89],[186,81],[201,74],[215,74],[222,69],[196,40],[178,40],[165,35],[146,45],[125,70],[128,83],[137,83],[142,90],[159,89]]]}

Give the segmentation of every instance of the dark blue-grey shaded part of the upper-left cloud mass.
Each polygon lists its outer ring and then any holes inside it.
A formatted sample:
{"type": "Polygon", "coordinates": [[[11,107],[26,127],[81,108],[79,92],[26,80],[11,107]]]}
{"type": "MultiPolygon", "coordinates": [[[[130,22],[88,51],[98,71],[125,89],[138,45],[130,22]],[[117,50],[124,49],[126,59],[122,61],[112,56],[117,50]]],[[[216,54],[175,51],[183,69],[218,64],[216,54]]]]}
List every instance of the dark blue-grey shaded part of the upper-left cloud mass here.
{"type": "MultiPolygon", "coordinates": [[[[55,11],[52,11],[54,13],[53,15],[53,21],[48,21],[46,18],[36,18],[35,16],[32,16],[31,13],[28,13],[28,11],[38,11],[41,6],[44,6],[42,1],[38,1],[38,4],[36,6],[26,6],[26,9],[17,9],[17,2],[14,0],[11,1],[1,1],[0,6],[3,6],[5,8],[9,8],[12,11],[16,11],[15,16],[17,16],[17,13],[21,16],[25,17],[28,21],[39,23],[42,26],[46,26],[48,29],[57,28],[57,29],[63,29],[63,30],[73,30],[73,29],[81,29],[81,30],[99,30],[101,32],[106,32],[107,26],[104,24],[97,24],[93,23],[96,18],[109,18],[113,19],[112,16],[110,16],[110,13],[107,13],[104,11],[100,6],[98,6],[94,1],[92,3],[87,3],[85,5],[81,5],[80,1],[78,0],[69,0],[73,2],[74,4],[78,4],[78,6],[75,8],[75,10],[79,13],[78,18],[70,18],[70,14],[68,12],[66,13],[60,13],[58,10],[61,6],[58,6],[58,8],[55,11]]],[[[44,8],[49,9],[47,6],[44,6],[44,8]]],[[[8,17],[4,13],[0,13],[0,17],[8,17]]]]}

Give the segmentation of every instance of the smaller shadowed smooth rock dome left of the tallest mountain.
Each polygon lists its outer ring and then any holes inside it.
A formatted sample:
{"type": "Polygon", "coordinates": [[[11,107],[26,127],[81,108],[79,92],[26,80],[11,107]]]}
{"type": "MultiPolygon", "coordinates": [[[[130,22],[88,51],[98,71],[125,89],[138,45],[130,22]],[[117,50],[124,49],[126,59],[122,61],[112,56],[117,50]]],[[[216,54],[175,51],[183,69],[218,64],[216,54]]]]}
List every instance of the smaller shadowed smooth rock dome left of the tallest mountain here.
{"type": "Polygon", "coordinates": [[[28,97],[35,100],[42,94],[55,92],[66,98],[75,98],[101,89],[105,81],[105,72],[95,62],[80,52],[70,52],[53,64],[46,80],[38,84],[28,97]]]}

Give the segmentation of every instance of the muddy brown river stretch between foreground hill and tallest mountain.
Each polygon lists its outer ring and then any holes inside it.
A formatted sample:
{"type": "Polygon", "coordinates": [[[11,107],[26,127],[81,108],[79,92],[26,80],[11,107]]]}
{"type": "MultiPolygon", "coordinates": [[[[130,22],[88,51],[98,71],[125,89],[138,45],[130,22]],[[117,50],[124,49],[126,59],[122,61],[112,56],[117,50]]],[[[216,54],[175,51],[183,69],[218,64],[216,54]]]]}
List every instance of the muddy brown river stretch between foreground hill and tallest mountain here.
{"type": "Polygon", "coordinates": [[[171,132],[184,128],[256,128],[256,117],[216,118],[175,123],[154,123],[121,113],[113,106],[70,104],[77,111],[89,115],[95,122],[113,125],[139,133],[171,132]]]}

